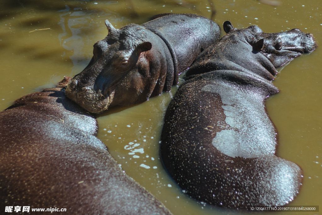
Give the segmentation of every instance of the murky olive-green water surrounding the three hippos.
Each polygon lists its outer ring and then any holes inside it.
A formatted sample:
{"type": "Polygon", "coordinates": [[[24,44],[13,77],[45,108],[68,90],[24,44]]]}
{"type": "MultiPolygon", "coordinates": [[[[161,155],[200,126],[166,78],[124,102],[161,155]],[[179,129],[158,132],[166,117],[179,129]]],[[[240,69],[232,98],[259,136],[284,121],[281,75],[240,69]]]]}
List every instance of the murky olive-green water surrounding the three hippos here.
{"type": "MultiPolygon", "coordinates": [[[[225,20],[238,28],[257,24],[265,32],[297,27],[321,41],[320,0],[283,0],[279,6],[255,0],[213,2],[217,11],[214,20],[221,27],[225,20]]],[[[105,19],[119,28],[146,22],[158,13],[196,13],[210,17],[210,11],[207,0],[133,0],[132,3],[2,0],[0,110],[25,94],[53,86],[64,75],[81,72],[90,61],[92,45],[107,34],[105,19]],[[44,28],[50,29],[39,30],[44,28]]],[[[290,205],[322,206],[321,52],[318,48],[285,67],[274,81],[280,93],[267,102],[270,118],[279,132],[278,156],[296,162],[304,172],[302,189],[290,205]]],[[[234,213],[189,198],[162,167],[158,156],[160,132],[176,88],[145,103],[117,107],[101,114],[98,137],[128,175],[173,214],[234,213]],[[146,169],[147,166],[150,168],[146,169]]]]}

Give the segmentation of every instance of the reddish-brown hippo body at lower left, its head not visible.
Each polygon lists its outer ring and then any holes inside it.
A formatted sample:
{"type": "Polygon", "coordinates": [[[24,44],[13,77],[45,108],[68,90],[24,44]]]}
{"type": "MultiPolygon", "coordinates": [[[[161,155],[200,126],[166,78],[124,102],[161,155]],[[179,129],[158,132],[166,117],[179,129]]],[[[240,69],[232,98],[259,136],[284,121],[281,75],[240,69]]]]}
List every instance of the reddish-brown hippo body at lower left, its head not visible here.
{"type": "Polygon", "coordinates": [[[121,170],[95,136],[96,119],[66,98],[70,80],[26,95],[0,112],[1,210],[30,206],[66,208],[68,214],[171,214],[121,170]]]}

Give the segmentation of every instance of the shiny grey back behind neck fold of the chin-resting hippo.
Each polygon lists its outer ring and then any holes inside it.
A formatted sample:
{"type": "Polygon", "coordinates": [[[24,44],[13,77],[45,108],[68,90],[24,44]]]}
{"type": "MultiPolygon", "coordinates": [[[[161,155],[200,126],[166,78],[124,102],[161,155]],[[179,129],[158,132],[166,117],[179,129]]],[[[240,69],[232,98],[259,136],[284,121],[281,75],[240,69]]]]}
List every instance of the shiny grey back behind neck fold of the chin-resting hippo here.
{"type": "Polygon", "coordinates": [[[218,24],[194,14],[164,15],[142,25],[167,44],[175,66],[174,84],[178,82],[178,74],[184,72],[220,36],[218,24]]]}

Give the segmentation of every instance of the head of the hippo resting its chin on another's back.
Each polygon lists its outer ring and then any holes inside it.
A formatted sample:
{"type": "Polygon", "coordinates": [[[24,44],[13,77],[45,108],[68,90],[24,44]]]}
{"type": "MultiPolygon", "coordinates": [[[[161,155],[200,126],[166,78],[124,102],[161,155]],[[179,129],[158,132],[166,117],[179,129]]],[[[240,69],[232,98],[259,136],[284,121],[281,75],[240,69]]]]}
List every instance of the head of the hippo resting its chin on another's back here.
{"type": "Polygon", "coordinates": [[[151,62],[149,54],[153,51],[148,39],[152,33],[136,24],[121,29],[108,20],[105,24],[107,37],[94,44],[90,63],[66,87],[67,97],[92,113],[116,104],[146,101],[159,78],[150,70],[160,67],[159,61],[151,62]]]}

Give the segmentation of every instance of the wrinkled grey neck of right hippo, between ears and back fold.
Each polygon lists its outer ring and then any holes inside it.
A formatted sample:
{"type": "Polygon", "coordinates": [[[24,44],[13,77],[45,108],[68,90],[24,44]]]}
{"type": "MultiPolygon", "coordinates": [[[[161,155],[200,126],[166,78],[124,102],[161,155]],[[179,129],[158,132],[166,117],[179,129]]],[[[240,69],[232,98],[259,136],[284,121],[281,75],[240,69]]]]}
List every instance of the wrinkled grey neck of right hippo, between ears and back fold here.
{"type": "Polygon", "coordinates": [[[186,77],[215,70],[257,74],[268,81],[273,80],[277,74],[270,60],[253,48],[246,38],[241,39],[228,34],[200,54],[186,73],[186,77]]]}

